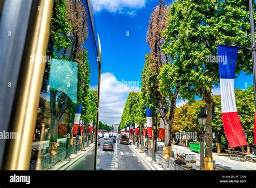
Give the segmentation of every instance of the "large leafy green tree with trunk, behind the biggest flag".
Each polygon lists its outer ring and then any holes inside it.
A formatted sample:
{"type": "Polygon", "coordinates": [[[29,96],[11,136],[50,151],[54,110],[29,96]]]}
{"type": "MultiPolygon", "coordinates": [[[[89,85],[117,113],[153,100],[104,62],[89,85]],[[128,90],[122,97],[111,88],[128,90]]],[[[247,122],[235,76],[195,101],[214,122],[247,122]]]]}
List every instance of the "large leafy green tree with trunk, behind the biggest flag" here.
{"type": "MultiPolygon", "coordinates": [[[[164,32],[166,37],[162,50],[165,54],[176,53],[186,72],[181,80],[187,86],[180,90],[183,99],[194,100],[201,96],[207,114],[206,132],[212,133],[212,93],[219,82],[219,65],[207,61],[209,55],[217,54],[214,44],[250,46],[248,5],[246,1],[181,1],[173,2],[179,7],[179,17],[169,12],[169,22],[164,32]],[[177,32],[175,39],[173,30],[177,32]]],[[[236,73],[251,70],[250,52],[239,51],[236,73]]],[[[205,157],[212,157],[212,138],[206,137],[205,157]]]]}

